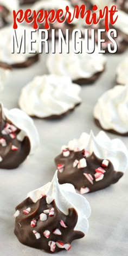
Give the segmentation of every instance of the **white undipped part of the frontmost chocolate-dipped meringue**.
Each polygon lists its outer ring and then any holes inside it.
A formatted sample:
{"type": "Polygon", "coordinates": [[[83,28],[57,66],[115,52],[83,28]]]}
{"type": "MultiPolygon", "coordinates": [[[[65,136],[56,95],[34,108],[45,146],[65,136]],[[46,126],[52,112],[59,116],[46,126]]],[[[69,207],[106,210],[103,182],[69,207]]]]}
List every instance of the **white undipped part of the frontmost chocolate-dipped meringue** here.
{"type": "Polygon", "coordinates": [[[52,182],[48,182],[43,187],[31,191],[28,193],[27,197],[30,197],[33,202],[37,202],[41,194],[55,200],[57,208],[66,215],[68,215],[69,208],[74,208],[78,213],[78,222],[74,230],[81,231],[85,234],[87,233],[89,227],[87,219],[91,215],[91,207],[84,196],[76,193],[72,184],[59,184],[57,171],[55,172],[52,182]]]}

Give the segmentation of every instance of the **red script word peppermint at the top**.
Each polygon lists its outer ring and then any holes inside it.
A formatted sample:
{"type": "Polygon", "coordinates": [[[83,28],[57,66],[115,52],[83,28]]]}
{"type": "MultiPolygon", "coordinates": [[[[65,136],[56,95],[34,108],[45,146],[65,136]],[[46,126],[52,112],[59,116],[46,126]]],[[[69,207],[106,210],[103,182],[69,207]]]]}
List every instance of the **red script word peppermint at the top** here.
{"type": "Polygon", "coordinates": [[[39,23],[44,23],[44,28],[49,29],[50,23],[59,22],[64,23],[65,21],[71,24],[74,19],[82,18],[85,20],[85,24],[98,24],[101,20],[105,21],[105,29],[108,31],[110,29],[109,24],[114,25],[117,21],[118,12],[116,5],[112,5],[111,9],[106,6],[103,10],[99,9],[97,5],[94,5],[91,10],[86,9],[86,5],[82,4],[81,7],[75,5],[74,11],[71,12],[69,7],[66,6],[65,10],[31,10],[27,9],[25,11],[18,10],[13,11],[14,25],[13,28],[17,29],[18,23],[27,22],[29,24],[33,23],[33,28],[38,29],[39,23]]]}

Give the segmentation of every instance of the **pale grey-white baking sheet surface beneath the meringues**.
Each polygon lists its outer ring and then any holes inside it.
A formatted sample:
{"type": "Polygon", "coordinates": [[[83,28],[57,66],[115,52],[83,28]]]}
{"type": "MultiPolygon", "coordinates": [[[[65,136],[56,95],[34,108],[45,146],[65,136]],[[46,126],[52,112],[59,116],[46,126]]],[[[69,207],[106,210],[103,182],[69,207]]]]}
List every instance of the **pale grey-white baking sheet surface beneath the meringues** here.
{"type": "MultiPolygon", "coordinates": [[[[99,129],[93,121],[94,105],[103,92],[116,84],[116,67],[126,55],[128,56],[128,52],[121,55],[106,55],[106,71],[95,84],[82,86],[82,104],[75,108],[75,111],[61,119],[35,119],[35,125],[40,134],[40,148],[18,169],[0,170],[1,255],[49,255],[24,246],[17,240],[14,235],[15,220],[12,218],[15,206],[25,199],[29,191],[52,180],[56,170],[54,158],[59,155],[63,144],[67,144],[70,139],[79,138],[82,132],[89,132],[91,129],[97,135],[99,129]]],[[[5,107],[17,107],[21,88],[35,75],[47,73],[45,69],[47,56],[47,54],[41,55],[41,60],[30,68],[12,71],[10,81],[0,94],[0,100],[5,107]]],[[[116,138],[117,136],[110,134],[110,137],[116,138]]],[[[128,146],[128,138],[122,139],[128,146]]],[[[86,199],[92,208],[88,234],[83,239],[73,241],[71,251],[62,251],[60,255],[127,256],[127,194],[128,172],[111,187],[87,194],[86,199]]]]}

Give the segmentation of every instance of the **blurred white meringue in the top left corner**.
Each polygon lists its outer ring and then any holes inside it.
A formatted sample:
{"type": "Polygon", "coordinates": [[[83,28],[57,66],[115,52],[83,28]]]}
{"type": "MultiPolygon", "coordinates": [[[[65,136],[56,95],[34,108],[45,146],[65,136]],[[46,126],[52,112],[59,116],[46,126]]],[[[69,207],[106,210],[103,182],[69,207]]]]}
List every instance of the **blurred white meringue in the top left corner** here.
{"type": "Polygon", "coordinates": [[[19,9],[19,4],[17,0],[0,0],[0,5],[3,5],[7,10],[9,10],[8,22],[13,21],[13,10],[17,11],[19,9]]]}

